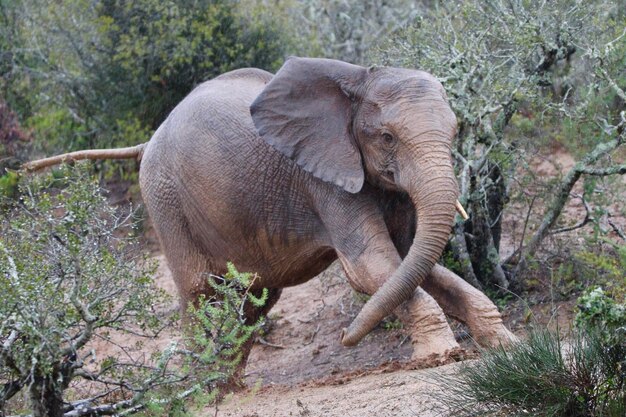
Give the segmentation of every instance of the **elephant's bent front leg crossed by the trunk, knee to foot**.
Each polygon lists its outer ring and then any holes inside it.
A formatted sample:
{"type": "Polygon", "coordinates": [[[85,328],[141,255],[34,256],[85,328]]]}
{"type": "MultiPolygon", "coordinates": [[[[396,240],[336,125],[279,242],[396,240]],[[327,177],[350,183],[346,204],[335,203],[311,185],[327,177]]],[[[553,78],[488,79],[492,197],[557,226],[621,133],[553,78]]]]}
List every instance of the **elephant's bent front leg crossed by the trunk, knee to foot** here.
{"type": "MultiPolygon", "coordinates": [[[[348,281],[357,291],[374,294],[398,268],[401,258],[386,228],[375,230],[362,251],[355,249],[337,250],[348,281]]],[[[458,348],[443,310],[423,289],[418,287],[413,297],[398,307],[395,314],[410,335],[412,359],[432,355],[442,358],[458,348]]]]}

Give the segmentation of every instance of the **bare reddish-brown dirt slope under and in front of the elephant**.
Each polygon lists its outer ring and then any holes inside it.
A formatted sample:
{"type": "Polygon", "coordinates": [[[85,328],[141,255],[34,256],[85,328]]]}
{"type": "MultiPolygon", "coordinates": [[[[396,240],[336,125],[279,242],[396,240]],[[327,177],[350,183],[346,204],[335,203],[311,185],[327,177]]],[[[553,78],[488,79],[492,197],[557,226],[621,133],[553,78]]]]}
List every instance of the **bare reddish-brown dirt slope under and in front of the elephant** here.
{"type": "MultiPolygon", "coordinates": [[[[157,259],[158,285],[175,291],[164,257],[157,259]]],[[[228,396],[218,405],[217,415],[441,415],[435,377],[454,372],[460,364],[456,361],[475,357],[464,329],[453,323],[468,352],[448,364],[410,362],[411,344],[393,319],[384,321],[358,346],[345,348],[339,341],[341,329],[363,302],[338,263],[303,285],[285,289],[250,354],[245,371],[249,388],[228,396]]],[[[156,346],[164,346],[170,337],[176,335],[163,335],[156,346]]],[[[210,407],[205,412],[215,415],[216,411],[210,407]]]]}

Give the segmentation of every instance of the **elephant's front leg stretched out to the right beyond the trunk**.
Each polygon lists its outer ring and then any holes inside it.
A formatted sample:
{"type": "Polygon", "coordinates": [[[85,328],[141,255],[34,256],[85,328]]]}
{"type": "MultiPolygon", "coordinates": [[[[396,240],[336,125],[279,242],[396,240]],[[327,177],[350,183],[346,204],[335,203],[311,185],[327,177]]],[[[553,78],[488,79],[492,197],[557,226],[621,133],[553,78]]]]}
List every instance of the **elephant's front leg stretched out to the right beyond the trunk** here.
{"type": "Polygon", "coordinates": [[[491,300],[454,272],[435,265],[422,284],[450,317],[465,323],[481,346],[509,344],[517,338],[502,323],[502,316],[491,300]]]}

